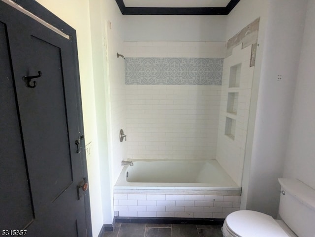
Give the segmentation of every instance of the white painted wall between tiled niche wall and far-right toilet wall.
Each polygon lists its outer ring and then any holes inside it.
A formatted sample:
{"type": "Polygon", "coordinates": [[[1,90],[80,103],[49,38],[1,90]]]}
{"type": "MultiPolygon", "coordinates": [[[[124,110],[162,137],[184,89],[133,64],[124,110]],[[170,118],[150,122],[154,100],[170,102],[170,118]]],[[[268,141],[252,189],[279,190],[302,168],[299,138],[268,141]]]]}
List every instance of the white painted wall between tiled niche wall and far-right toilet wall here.
{"type": "MultiPolygon", "coordinates": [[[[260,17],[241,208],[262,211],[274,217],[279,205],[277,178],[283,176],[284,156],[289,152],[286,142],[305,2],[242,0],[227,17],[226,40],[260,17]],[[282,75],[282,79],[278,80],[278,75],[282,75]]],[[[288,148],[293,143],[293,133],[290,139],[288,148]]],[[[291,161],[286,163],[287,176],[292,164],[291,161]]]]}

